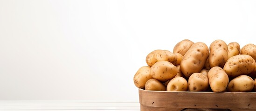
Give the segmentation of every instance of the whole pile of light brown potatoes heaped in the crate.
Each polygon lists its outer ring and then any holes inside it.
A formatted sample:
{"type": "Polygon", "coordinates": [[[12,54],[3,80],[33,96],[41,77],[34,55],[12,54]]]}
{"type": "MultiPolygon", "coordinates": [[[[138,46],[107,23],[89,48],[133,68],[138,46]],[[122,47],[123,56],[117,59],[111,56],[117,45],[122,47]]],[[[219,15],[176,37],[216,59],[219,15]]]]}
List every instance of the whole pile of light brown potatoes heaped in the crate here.
{"type": "Polygon", "coordinates": [[[134,84],[154,91],[255,92],[256,45],[184,39],[169,50],[153,50],[148,66],[138,69],[134,84]]]}

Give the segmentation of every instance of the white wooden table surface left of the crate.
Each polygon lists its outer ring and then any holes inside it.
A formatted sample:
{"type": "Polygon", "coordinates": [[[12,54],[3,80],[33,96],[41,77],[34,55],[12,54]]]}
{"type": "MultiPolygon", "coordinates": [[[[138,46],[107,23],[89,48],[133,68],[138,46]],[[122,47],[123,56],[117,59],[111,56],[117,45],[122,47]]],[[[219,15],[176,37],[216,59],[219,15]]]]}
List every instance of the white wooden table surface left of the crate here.
{"type": "Polygon", "coordinates": [[[136,102],[0,101],[0,111],[139,111],[136,102]]]}

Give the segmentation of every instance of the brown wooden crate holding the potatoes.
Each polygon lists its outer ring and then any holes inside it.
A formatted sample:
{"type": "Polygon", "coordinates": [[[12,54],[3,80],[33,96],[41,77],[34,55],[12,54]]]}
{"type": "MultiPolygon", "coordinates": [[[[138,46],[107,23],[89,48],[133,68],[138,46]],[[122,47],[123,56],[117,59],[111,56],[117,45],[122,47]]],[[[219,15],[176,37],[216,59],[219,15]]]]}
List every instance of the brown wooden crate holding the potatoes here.
{"type": "Polygon", "coordinates": [[[184,108],[256,111],[256,93],[167,92],[138,90],[141,111],[181,111],[184,108]]]}

